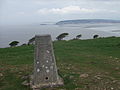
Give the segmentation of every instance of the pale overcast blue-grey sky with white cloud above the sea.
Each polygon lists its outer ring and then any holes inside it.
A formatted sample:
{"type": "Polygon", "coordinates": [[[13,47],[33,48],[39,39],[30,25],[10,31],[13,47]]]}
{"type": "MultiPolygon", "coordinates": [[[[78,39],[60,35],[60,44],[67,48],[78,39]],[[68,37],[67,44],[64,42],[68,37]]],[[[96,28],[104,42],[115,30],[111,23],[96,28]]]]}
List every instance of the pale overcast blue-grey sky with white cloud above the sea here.
{"type": "Polygon", "coordinates": [[[0,25],[73,19],[120,20],[120,0],[0,0],[0,25]]]}

